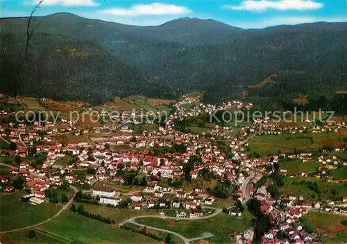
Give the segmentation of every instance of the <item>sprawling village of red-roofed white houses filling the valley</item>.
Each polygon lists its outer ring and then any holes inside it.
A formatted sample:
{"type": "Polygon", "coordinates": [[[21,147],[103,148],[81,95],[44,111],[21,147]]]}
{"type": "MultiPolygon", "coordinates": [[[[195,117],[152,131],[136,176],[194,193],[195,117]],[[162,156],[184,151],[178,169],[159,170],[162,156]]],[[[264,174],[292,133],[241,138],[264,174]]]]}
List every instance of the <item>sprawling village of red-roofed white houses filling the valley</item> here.
{"type": "MultiPolygon", "coordinates": [[[[277,179],[270,179],[269,175],[276,172],[273,168],[279,162],[305,164],[315,161],[320,166],[314,170],[291,172],[280,168],[279,175],[283,179],[306,177],[334,182],[339,180],[331,177],[329,170],[343,168],[347,162],[325,151],[320,154],[278,152],[264,158],[251,153],[248,140],[254,136],[308,131],[339,133],[346,128],[344,122],[328,121],[319,127],[307,121],[311,124],[307,128],[273,124],[270,118],[257,117],[239,128],[237,135],[232,133],[232,127],[213,122],[204,124],[208,129],[200,133],[176,130],[175,123],[189,117],[252,106],[241,101],[216,106],[203,104],[199,97],[183,96],[174,104],[176,110],[164,124],[159,124],[155,130],[142,129],[139,133],[134,131],[131,122],[84,129],[64,119],[58,126],[51,120],[44,124],[35,121],[33,127],[10,122],[0,127],[0,133],[1,139],[8,141],[12,148],[1,150],[1,154],[14,156],[17,167],[10,165],[4,171],[1,191],[3,194],[15,192],[12,183],[22,177],[25,179],[22,188],[28,192],[22,200],[27,204],[51,202],[47,190],[67,185],[88,195],[84,201],[93,204],[137,211],[150,209],[158,211],[162,218],[177,220],[211,218],[222,212],[242,218],[244,205],[257,200],[262,214],[268,215],[271,221],[271,229],[264,233],[260,243],[319,243],[319,235],[305,231],[301,218],[310,211],[347,215],[347,195],[335,200],[312,201],[294,193],[272,194],[269,186],[276,184],[277,179]],[[104,132],[106,129],[111,132],[104,132]],[[75,138],[90,134],[93,137],[60,142],[59,135],[65,133],[75,138]],[[117,147],[122,149],[117,150],[117,147]],[[269,179],[263,181],[264,177],[269,179]],[[194,184],[187,184],[189,181],[194,184]],[[219,185],[205,186],[204,182],[212,181],[218,181],[219,185]],[[133,186],[137,190],[119,190],[133,186]],[[221,198],[233,198],[237,204],[234,201],[221,206],[221,198]]],[[[134,116],[130,114],[127,121],[134,116]]],[[[345,151],[345,147],[332,149],[332,152],[345,151]]],[[[248,229],[238,233],[237,243],[252,243],[254,232],[248,229]]]]}

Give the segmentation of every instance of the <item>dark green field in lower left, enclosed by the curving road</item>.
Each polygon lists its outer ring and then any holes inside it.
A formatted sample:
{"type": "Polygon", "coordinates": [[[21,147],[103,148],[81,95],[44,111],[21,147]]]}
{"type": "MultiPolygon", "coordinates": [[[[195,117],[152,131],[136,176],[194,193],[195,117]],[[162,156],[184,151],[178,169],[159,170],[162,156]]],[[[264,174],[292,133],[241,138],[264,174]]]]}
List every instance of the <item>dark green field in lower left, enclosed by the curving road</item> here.
{"type": "Polygon", "coordinates": [[[44,203],[33,206],[28,202],[22,202],[20,197],[25,194],[18,192],[12,195],[0,196],[1,231],[37,224],[50,218],[61,208],[58,204],[44,203]]]}

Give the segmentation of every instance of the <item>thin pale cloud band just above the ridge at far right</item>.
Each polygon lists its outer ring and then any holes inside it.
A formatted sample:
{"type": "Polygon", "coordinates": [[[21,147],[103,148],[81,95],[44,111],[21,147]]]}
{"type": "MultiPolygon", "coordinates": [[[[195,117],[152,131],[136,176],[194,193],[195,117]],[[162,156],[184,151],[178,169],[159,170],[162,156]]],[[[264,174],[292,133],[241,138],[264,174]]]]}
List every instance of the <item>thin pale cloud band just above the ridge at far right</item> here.
{"type": "Polygon", "coordinates": [[[272,17],[269,19],[262,19],[257,22],[228,22],[228,24],[241,27],[243,29],[262,29],[269,26],[279,26],[282,24],[294,25],[314,22],[347,22],[347,17],[272,17]]]}

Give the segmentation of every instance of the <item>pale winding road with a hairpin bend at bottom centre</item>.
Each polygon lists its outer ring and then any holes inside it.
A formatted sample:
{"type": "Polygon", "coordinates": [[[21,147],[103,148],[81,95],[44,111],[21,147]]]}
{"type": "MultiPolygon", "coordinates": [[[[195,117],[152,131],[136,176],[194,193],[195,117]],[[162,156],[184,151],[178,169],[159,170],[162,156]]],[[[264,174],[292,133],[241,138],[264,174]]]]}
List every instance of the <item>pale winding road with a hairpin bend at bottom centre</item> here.
{"type": "MultiPolygon", "coordinates": [[[[207,208],[207,209],[214,209],[214,208],[207,208]]],[[[223,211],[223,209],[214,209],[214,210],[215,210],[215,212],[212,213],[211,215],[203,216],[201,218],[177,218],[177,217],[167,217],[167,216],[166,217],[162,217],[160,215],[142,215],[142,216],[129,218],[128,220],[124,220],[123,222],[121,222],[121,225],[124,225],[126,223],[130,223],[130,224],[133,224],[133,225],[137,225],[139,227],[146,226],[146,228],[148,228],[148,229],[153,229],[153,230],[156,230],[156,231],[162,231],[162,232],[170,233],[170,234],[180,238],[183,241],[183,243],[189,243],[191,241],[198,241],[198,240],[203,240],[205,238],[211,238],[214,235],[210,234],[210,233],[206,233],[203,236],[199,236],[199,237],[196,237],[196,238],[188,239],[188,238],[185,238],[185,236],[182,236],[181,234],[178,234],[177,232],[169,231],[167,229],[155,228],[155,227],[151,227],[151,226],[148,226],[148,225],[141,225],[141,224],[138,224],[135,220],[137,220],[139,218],[164,218],[164,219],[171,219],[171,220],[191,220],[191,221],[194,221],[194,220],[205,220],[205,219],[208,219],[208,218],[213,218],[214,216],[219,215],[219,213],[221,213],[223,211]]]]}

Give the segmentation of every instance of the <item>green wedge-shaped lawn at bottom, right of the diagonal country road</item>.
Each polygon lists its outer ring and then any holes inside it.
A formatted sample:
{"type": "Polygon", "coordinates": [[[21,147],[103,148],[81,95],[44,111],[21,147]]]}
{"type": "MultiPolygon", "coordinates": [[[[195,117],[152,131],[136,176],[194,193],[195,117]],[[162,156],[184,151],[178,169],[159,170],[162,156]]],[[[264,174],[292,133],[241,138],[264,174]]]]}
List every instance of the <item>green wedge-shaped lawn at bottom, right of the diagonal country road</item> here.
{"type": "Polygon", "coordinates": [[[40,228],[82,243],[158,243],[147,236],[69,211],[40,228]]]}

